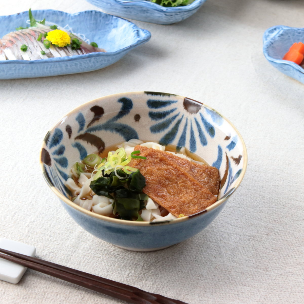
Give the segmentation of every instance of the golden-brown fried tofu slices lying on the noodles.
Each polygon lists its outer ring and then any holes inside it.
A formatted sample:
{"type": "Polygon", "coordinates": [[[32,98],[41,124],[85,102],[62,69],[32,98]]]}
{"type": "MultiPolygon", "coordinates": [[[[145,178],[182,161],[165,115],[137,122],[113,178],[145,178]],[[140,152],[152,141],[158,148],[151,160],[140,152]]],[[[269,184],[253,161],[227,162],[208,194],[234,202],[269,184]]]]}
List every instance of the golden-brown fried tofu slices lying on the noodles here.
{"type": "Polygon", "coordinates": [[[146,178],[143,192],[175,216],[194,214],[216,202],[216,196],[207,188],[214,191],[217,183],[219,185],[219,181],[212,179],[218,176],[213,169],[206,172],[205,167],[208,166],[193,163],[165,151],[143,146],[136,146],[134,150],[139,150],[141,156],[147,157],[146,160],[132,159],[128,164],[139,169],[146,178]],[[205,175],[202,175],[203,173],[205,175]],[[211,183],[206,182],[210,179],[211,183]]]}

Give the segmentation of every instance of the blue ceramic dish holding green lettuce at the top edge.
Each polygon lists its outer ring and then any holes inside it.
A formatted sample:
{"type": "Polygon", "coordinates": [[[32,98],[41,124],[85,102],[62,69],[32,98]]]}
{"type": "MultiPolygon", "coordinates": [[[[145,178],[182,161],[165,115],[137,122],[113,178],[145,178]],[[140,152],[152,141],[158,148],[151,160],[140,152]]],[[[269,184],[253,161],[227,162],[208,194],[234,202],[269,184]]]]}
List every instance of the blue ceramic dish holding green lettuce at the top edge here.
{"type": "Polygon", "coordinates": [[[189,5],[164,7],[144,0],[87,0],[105,12],[139,21],[172,24],[193,15],[206,0],[195,0],[189,5]]]}

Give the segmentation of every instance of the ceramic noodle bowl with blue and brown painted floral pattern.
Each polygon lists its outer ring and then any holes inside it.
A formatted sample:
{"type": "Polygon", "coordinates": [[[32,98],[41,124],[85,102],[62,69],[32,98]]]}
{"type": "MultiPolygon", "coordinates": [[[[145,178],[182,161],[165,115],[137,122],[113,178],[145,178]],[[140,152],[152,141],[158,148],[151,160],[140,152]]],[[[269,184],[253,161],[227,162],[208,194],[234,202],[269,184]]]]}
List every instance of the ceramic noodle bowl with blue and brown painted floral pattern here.
{"type": "Polygon", "coordinates": [[[158,92],[115,94],[85,103],[47,133],[41,150],[43,176],[68,214],[96,237],[136,251],[165,248],[203,230],[240,185],[246,166],[244,141],[227,119],[201,102],[158,92]],[[64,186],[73,164],[132,138],[177,149],[185,146],[218,168],[217,202],[199,213],[162,222],[115,219],[73,203],[64,186]]]}

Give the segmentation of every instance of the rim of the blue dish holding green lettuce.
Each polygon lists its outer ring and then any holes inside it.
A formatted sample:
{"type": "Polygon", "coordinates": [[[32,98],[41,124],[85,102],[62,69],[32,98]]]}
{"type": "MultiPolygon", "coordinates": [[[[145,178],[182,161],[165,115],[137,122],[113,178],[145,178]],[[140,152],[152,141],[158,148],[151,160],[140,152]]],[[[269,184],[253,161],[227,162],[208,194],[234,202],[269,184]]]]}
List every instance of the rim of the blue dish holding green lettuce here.
{"type": "MultiPolygon", "coordinates": [[[[102,1],[102,0],[101,0],[102,1]]],[[[150,2],[150,1],[144,1],[144,0],[112,0],[113,2],[116,2],[121,5],[134,5],[134,6],[140,6],[145,8],[150,8],[159,12],[184,12],[184,11],[191,11],[196,8],[198,8],[200,5],[202,5],[206,0],[195,0],[189,5],[185,6],[175,6],[175,7],[164,7],[159,4],[150,2]]]]}

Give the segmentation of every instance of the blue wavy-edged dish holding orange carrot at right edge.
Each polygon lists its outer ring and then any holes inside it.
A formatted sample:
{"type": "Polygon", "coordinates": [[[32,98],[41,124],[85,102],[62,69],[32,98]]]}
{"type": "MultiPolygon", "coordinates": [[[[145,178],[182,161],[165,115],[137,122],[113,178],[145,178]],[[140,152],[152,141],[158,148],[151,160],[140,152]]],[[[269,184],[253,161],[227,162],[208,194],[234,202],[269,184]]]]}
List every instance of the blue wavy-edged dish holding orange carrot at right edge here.
{"type": "Polygon", "coordinates": [[[304,69],[292,61],[282,59],[295,42],[304,43],[304,28],[273,26],[264,33],[263,52],[266,59],[275,68],[304,83],[304,69]]]}

